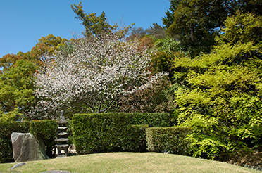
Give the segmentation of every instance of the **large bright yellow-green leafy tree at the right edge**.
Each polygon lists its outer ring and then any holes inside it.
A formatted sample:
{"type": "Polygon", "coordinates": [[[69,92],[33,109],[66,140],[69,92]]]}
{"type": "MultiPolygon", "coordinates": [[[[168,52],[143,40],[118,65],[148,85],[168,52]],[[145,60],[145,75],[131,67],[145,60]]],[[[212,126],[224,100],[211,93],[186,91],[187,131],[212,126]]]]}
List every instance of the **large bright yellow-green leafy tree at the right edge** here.
{"type": "Polygon", "coordinates": [[[237,13],[225,21],[211,53],[175,63],[178,124],[192,127],[196,157],[220,159],[235,149],[261,147],[261,21],[237,13]]]}

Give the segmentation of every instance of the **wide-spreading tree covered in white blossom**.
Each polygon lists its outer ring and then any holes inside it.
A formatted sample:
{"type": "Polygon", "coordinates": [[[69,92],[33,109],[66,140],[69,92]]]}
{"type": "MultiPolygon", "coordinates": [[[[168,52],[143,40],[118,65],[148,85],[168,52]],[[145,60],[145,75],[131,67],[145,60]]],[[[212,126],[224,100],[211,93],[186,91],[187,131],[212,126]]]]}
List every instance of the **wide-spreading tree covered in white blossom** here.
{"type": "MultiPolygon", "coordinates": [[[[46,116],[109,111],[121,96],[146,89],[165,73],[151,74],[154,51],[123,32],[78,39],[71,52],[58,51],[36,75],[36,96],[46,116]],[[122,34],[121,34],[122,33],[122,34]]],[[[39,111],[39,108],[37,111],[39,111]]],[[[36,111],[36,112],[37,112],[36,111]]]]}

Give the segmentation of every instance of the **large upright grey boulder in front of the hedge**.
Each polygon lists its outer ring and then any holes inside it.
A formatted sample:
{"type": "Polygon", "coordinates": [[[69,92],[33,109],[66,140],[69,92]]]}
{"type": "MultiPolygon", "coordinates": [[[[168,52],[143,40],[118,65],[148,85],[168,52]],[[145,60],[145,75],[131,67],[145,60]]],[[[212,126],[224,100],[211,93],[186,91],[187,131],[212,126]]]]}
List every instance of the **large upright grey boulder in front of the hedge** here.
{"type": "Polygon", "coordinates": [[[46,155],[46,148],[42,140],[37,140],[30,133],[11,134],[13,146],[13,158],[15,162],[25,162],[32,160],[44,160],[49,157],[46,155]]]}

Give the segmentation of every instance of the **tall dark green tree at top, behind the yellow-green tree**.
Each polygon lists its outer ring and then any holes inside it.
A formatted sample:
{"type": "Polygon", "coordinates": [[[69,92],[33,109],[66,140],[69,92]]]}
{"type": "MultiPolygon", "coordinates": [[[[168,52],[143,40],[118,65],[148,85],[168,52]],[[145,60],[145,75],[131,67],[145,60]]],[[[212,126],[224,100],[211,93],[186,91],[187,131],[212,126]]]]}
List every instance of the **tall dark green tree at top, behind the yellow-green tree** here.
{"type": "Polygon", "coordinates": [[[173,13],[173,23],[167,33],[179,35],[182,46],[192,57],[200,52],[209,53],[214,37],[227,18],[225,5],[217,0],[182,0],[173,13]]]}

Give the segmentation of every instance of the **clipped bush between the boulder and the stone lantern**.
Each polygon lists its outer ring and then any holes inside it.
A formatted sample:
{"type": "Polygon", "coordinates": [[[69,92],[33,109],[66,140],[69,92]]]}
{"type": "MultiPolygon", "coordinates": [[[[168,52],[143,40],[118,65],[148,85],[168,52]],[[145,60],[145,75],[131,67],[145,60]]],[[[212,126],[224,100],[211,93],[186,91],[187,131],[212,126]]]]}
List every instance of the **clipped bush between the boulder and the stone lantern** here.
{"type": "Polygon", "coordinates": [[[56,142],[58,124],[56,120],[33,120],[30,122],[30,133],[37,139],[42,139],[46,146],[46,155],[50,158],[55,157],[52,152],[56,142]]]}

